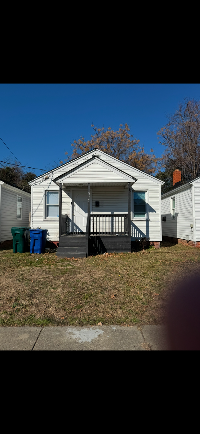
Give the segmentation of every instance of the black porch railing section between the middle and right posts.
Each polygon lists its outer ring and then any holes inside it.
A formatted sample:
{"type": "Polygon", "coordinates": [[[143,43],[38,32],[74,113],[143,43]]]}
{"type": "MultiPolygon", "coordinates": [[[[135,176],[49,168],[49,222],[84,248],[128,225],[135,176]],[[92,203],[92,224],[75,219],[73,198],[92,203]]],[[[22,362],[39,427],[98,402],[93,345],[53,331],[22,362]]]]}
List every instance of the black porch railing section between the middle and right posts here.
{"type": "Polygon", "coordinates": [[[90,214],[91,235],[128,235],[128,214],[90,214]]]}

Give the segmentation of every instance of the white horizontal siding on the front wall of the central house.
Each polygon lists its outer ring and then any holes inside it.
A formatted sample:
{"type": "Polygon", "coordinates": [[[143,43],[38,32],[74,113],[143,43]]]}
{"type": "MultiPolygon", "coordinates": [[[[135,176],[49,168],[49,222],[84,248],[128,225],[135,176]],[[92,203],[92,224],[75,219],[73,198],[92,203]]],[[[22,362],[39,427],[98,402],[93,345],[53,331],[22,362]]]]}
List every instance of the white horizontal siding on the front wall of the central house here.
{"type": "MultiPolygon", "coordinates": [[[[44,201],[45,201],[45,190],[56,190],[59,191],[58,185],[53,182],[53,179],[65,174],[67,171],[72,170],[72,168],[77,167],[84,161],[89,160],[92,154],[100,154],[102,161],[111,164],[113,167],[124,171],[125,173],[137,178],[136,183],[132,187],[132,191],[148,191],[149,203],[148,212],[149,219],[136,219],[133,218],[133,197],[131,197],[131,219],[132,219],[132,240],[141,237],[150,237],[152,241],[161,241],[161,184],[156,178],[148,176],[143,172],[117,160],[110,155],[102,154],[100,151],[92,151],[92,153],[83,155],[81,158],[70,162],[67,165],[63,165],[48,174],[48,179],[38,178],[32,182],[32,210],[31,210],[31,227],[41,227],[42,229],[48,229],[47,238],[49,240],[57,241],[59,239],[59,219],[54,220],[45,219],[44,216],[44,201]]],[[[93,213],[127,213],[128,212],[128,189],[124,187],[119,187],[115,184],[125,182],[125,178],[121,177],[119,174],[115,174],[108,168],[101,168],[98,163],[95,163],[88,168],[83,168],[79,171],[79,174],[70,175],[70,187],[75,186],[77,182],[86,183],[87,174],[89,171],[93,171],[94,182],[106,182],[107,185],[92,187],[92,209],[93,213]],[[121,178],[121,179],[120,179],[121,178]],[[99,208],[95,207],[95,201],[99,201],[99,208]]],[[[91,179],[91,178],[90,178],[91,179]]],[[[66,180],[66,183],[68,181],[66,180]]],[[[91,181],[92,182],[92,181],[91,181]]],[[[66,190],[69,192],[69,190],[66,190]]],[[[62,192],[62,214],[71,215],[71,202],[72,198],[70,194],[66,194],[65,191],[62,192]]]]}

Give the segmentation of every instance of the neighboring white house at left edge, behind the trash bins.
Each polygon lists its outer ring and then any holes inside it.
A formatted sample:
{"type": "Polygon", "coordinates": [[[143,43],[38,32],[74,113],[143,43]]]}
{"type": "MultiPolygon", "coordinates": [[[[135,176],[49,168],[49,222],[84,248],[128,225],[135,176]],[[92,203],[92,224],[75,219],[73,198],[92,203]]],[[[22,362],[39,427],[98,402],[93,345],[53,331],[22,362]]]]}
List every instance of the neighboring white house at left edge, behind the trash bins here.
{"type": "Polygon", "coordinates": [[[0,180],[0,243],[13,240],[11,227],[28,226],[31,194],[0,180]]]}

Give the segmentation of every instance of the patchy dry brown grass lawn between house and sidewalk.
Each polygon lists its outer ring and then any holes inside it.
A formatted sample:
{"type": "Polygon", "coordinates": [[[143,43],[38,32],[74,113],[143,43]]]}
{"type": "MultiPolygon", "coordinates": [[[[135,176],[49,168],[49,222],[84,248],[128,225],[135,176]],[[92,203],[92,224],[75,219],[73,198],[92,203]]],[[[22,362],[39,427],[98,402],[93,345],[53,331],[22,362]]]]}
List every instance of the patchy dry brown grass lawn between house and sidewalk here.
{"type": "Polygon", "coordinates": [[[81,260],[0,250],[0,325],[161,324],[200,263],[197,248],[163,246],[81,260]]]}

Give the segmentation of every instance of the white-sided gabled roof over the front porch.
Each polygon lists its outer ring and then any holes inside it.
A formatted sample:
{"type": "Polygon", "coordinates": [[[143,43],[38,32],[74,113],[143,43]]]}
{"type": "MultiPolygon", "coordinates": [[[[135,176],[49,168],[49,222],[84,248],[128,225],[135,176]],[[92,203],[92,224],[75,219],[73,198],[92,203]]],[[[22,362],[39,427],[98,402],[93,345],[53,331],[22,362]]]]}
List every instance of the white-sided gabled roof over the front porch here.
{"type": "Polygon", "coordinates": [[[65,187],[80,187],[79,184],[87,187],[89,182],[91,187],[125,187],[128,182],[134,184],[136,181],[130,174],[97,157],[90,158],[54,179],[56,184],[62,183],[65,187]]]}

